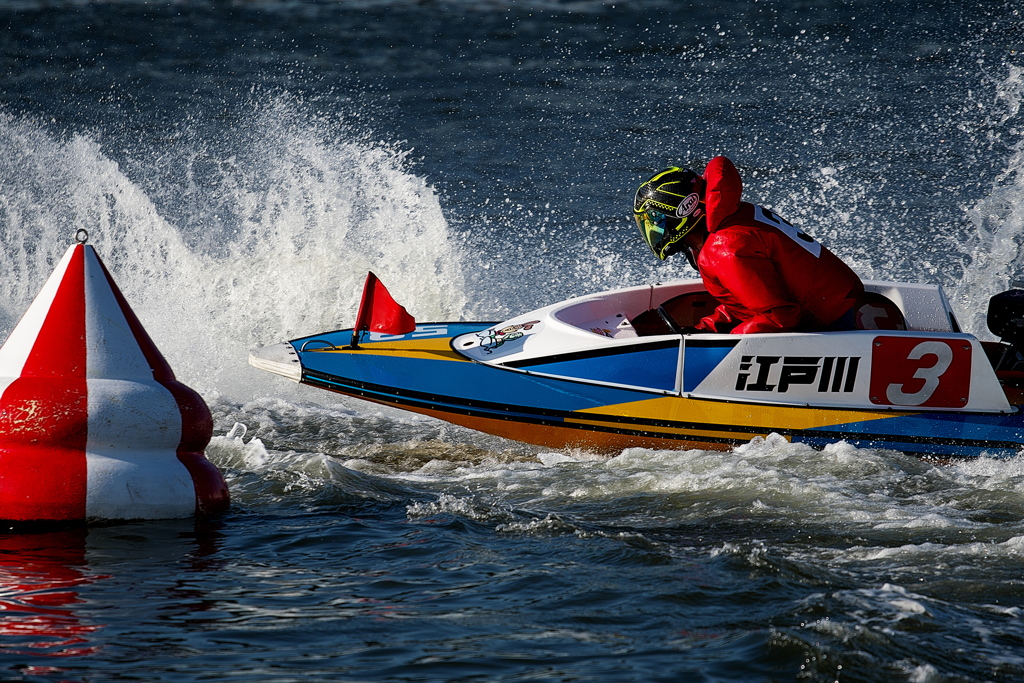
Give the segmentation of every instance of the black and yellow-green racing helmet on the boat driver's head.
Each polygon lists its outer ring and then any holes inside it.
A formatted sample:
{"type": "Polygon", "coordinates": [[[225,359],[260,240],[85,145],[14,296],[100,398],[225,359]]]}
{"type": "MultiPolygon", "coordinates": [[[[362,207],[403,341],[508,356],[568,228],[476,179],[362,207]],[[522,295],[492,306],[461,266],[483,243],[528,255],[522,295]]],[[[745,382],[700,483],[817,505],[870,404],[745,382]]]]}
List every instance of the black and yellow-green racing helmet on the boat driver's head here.
{"type": "Polygon", "coordinates": [[[643,182],[633,200],[633,219],[654,256],[675,254],[679,242],[705,220],[705,181],[693,171],[667,168],[643,182]]]}

